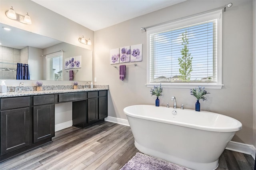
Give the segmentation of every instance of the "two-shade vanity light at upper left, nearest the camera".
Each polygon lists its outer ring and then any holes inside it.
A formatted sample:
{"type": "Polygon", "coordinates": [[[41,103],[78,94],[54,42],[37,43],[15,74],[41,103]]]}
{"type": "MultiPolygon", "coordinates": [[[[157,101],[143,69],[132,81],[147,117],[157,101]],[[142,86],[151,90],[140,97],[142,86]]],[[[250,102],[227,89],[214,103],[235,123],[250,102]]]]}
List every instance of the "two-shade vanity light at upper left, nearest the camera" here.
{"type": "Polygon", "coordinates": [[[31,18],[28,15],[28,12],[25,16],[22,16],[20,14],[16,14],[16,12],[14,11],[14,9],[11,7],[10,10],[6,11],[6,16],[12,20],[16,20],[18,22],[21,22],[23,24],[32,24],[31,22],[31,18]]]}

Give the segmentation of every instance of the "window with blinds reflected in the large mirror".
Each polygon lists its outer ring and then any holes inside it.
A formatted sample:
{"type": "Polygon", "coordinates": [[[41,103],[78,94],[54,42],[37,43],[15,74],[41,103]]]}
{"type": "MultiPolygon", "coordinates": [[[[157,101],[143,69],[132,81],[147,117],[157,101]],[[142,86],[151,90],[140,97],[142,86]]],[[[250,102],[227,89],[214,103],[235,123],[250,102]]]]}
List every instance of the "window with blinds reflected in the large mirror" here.
{"type": "Polygon", "coordinates": [[[63,80],[63,51],[46,55],[46,80],[63,80]]]}

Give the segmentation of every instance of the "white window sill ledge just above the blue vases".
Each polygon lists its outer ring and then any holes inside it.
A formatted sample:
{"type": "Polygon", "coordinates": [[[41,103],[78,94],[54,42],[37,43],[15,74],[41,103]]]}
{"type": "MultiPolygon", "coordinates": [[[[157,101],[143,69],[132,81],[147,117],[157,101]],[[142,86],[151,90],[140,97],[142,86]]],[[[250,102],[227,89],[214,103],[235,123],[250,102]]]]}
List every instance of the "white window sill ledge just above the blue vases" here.
{"type": "MultiPolygon", "coordinates": [[[[154,87],[154,85],[160,85],[160,83],[147,83],[147,87],[154,87]]],[[[206,89],[221,89],[222,84],[211,83],[161,83],[161,87],[164,88],[181,88],[181,89],[193,89],[198,86],[203,86],[206,89]]]]}

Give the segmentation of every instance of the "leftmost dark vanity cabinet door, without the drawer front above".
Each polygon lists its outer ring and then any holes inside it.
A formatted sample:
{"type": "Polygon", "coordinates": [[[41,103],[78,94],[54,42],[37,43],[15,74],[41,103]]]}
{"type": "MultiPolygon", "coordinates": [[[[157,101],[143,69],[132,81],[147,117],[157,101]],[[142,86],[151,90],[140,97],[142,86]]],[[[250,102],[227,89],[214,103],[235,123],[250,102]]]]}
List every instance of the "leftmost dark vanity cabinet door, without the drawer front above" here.
{"type": "Polygon", "coordinates": [[[1,155],[29,145],[29,108],[1,112],[1,155]]]}

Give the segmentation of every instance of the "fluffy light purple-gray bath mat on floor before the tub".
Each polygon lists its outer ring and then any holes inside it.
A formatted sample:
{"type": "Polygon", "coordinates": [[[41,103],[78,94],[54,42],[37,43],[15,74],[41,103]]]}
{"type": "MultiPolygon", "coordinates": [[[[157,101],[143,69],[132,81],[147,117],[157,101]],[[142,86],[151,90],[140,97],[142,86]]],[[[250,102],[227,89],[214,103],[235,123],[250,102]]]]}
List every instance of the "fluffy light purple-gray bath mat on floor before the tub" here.
{"type": "Polygon", "coordinates": [[[120,170],[190,170],[162,159],[136,153],[120,170]]]}

